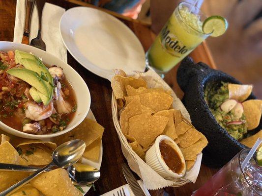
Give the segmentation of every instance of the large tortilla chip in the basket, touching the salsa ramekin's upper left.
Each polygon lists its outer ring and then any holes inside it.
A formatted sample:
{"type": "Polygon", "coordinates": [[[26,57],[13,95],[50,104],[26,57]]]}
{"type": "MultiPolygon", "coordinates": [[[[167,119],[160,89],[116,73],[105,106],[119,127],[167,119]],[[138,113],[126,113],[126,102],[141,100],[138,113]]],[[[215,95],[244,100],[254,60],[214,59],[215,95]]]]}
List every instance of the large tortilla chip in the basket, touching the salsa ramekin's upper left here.
{"type": "Polygon", "coordinates": [[[129,119],[129,136],[147,148],[157,136],[163,133],[169,118],[140,114],[129,119]],[[157,122],[157,123],[156,123],[157,122]]]}

